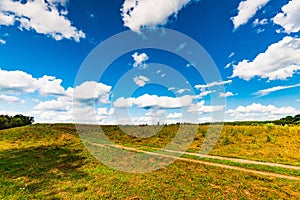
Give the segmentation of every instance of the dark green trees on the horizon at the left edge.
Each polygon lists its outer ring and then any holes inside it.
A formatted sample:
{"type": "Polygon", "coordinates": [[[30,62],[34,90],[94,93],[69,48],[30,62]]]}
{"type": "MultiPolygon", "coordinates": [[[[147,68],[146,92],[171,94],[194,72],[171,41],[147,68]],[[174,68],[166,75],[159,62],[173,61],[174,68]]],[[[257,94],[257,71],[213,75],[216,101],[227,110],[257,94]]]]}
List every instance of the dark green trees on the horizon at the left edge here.
{"type": "Polygon", "coordinates": [[[0,115],[0,130],[26,126],[34,122],[34,117],[24,116],[24,115],[0,115]]]}

